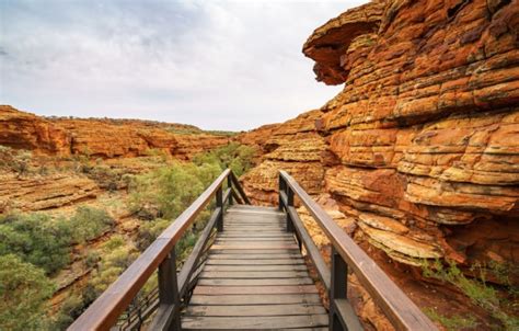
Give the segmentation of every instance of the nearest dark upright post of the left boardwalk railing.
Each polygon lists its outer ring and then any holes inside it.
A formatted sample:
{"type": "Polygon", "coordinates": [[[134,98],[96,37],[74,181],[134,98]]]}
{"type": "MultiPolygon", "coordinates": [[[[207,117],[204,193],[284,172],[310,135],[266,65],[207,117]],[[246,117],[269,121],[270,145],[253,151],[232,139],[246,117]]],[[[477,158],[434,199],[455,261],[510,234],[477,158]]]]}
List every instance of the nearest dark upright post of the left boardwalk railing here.
{"type": "Polygon", "coordinates": [[[181,300],[176,281],[175,247],[159,265],[159,301],[161,305],[174,305],[173,320],[170,321],[169,329],[181,330],[181,300]]]}

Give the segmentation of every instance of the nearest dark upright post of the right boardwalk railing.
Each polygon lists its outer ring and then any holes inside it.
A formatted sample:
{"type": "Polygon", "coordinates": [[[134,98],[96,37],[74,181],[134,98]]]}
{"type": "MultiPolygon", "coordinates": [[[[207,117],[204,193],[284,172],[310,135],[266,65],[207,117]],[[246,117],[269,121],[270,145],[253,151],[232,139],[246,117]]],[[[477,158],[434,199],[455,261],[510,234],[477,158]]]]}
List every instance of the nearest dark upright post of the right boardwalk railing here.
{"type": "Polygon", "coordinates": [[[347,298],[348,265],[332,244],[332,282],[330,288],[330,330],[345,330],[336,315],[335,299],[347,298]]]}

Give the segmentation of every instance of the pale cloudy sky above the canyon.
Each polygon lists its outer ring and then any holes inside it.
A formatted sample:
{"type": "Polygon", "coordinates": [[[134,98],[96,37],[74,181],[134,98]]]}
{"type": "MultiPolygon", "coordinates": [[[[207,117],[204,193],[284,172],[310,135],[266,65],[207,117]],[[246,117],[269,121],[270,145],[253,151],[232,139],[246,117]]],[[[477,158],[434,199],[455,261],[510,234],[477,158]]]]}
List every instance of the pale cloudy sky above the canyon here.
{"type": "Polygon", "coordinates": [[[0,0],[0,104],[247,130],[322,106],[301,48],[366,1],[0,0]]]}

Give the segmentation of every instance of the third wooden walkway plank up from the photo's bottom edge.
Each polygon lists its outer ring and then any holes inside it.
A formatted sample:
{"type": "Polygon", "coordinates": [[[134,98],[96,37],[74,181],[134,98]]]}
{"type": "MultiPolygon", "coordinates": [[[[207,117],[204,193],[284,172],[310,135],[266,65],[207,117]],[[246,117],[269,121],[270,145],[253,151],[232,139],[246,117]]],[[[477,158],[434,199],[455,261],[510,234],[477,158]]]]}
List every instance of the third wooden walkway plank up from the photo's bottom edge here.
{"type": "Polygon", "coordinates": [[[260,295],[194,295],[189,305],[278,305],[314,304],[321,305],[316,294],[260,294],[260,295]]]}

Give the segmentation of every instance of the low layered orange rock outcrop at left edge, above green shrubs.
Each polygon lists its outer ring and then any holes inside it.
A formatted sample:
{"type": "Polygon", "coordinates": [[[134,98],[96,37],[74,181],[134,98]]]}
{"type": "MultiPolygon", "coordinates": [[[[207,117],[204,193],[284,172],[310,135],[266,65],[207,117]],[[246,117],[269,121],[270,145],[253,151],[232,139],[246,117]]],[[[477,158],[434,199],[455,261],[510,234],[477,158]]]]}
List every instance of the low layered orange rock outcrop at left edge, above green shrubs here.
{"type": "Polygon", "coordinates": [[[1,175],[0,214],[13,210],[33,212],[58,208],[95,198],[99,193],[100,189],[95,182],[82,176],[1,175]]]}

